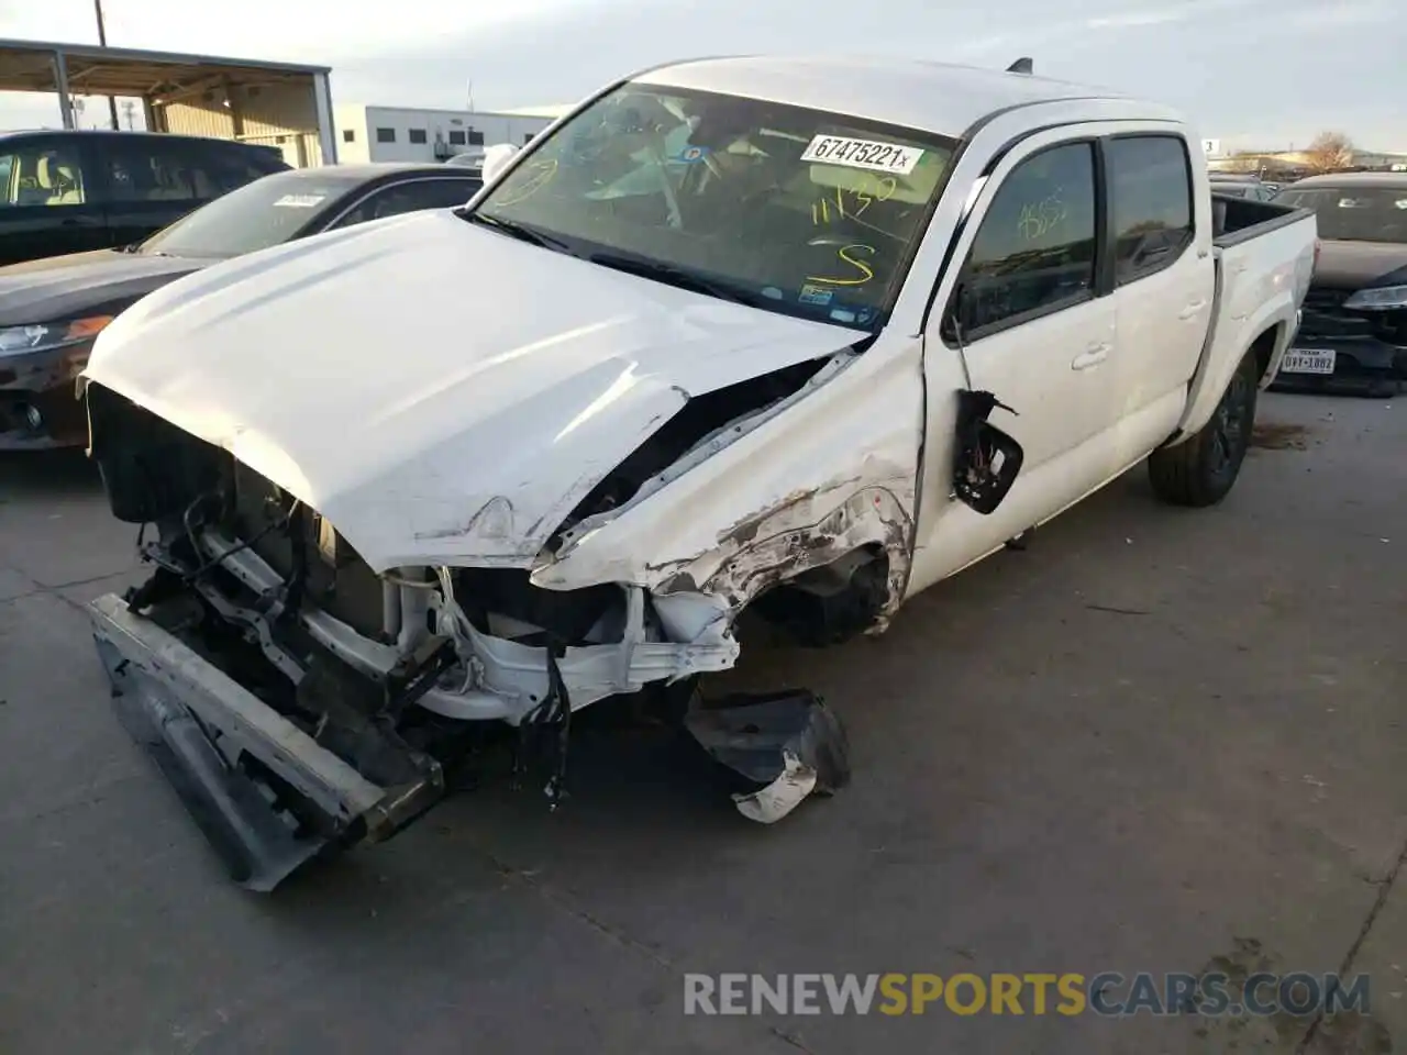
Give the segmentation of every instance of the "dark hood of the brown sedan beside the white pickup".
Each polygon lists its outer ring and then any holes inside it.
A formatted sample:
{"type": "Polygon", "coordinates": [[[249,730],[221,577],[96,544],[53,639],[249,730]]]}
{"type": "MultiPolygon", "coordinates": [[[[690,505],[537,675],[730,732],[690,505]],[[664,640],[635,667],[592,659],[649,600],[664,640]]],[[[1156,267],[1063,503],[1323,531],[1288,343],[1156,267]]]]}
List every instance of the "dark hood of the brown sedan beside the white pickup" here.
{"type": "Polygon", "coordinates": [[[0,326],[115,314],[207,263],[96,249],[0,267],[0,326]]]}

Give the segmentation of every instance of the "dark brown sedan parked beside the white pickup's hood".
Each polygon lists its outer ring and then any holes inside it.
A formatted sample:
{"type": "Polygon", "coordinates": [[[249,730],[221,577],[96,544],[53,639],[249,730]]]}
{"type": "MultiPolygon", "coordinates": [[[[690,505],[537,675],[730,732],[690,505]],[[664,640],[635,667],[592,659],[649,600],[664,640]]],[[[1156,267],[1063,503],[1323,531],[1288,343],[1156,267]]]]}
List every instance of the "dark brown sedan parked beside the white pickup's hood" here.
{"type": "Polygon", "coordinates": [[[333,165],[266,176],[145,242],[0,267],[0,450],[87,440],[73,378],[128,305],[219,260],[425,208],[461,205],[477,172],[333,165]]]}

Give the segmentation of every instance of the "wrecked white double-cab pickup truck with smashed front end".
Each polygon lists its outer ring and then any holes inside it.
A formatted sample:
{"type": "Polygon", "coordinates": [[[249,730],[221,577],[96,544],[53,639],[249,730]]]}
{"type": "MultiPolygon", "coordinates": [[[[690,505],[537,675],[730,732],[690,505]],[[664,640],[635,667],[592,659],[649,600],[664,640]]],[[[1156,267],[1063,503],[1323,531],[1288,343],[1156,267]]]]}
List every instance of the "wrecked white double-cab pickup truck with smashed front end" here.
{"type": "MultiPolygon", "coordinates": [[[[732,667],[744,609],[879,632],[1142,460],[1220,501],[1316,252],[1175,113],[1023,72],[681,62],[494,167],[167,286],[87,366],[155,526],[93,605],[118,712],[252,889],[404,827],[467,723],[550,731],[560,793],[571,712],[732,667]]],[[[684,720],[757,820],[844,779],[806,693],[684,720]]]]}

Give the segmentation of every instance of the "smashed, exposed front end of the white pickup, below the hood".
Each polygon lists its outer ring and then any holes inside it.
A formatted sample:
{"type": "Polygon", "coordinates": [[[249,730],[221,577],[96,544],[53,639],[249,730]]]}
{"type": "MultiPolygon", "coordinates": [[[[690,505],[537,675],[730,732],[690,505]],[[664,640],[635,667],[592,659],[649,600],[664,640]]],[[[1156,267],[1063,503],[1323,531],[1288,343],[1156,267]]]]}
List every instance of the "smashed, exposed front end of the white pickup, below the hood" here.
{"type": "MultiPolygon", "coordinates": [[[[820,370],[808,363],[689,401],[578,504],[559,537],[629,506],[701,440],[718,443],[719,415],[765,414],[820,370]]],[[[877,570],[889,582],[888,556],[862,539],[830,578],[822,565],[832,554],[817,549],[809,563],[791,557],[789,585],[754,571],[746,589],[692,587],[678,571],[667,584],[543,588],[535,575],[556,560],[550,553],[535,568],[377,573],[319,511],[222,447],[101,384],[89,383],[86,398],[90,454],[113,512],[142,526],[141,554],[155,567],[127,596],[91,606],[118,715],[252,890],[424,814],[453,784],[464,722],[552,729],[546,792],[556,805],[571,713],[727,670],[739,656],[736,616],[758,594],[771,591],[795,619],[795,602],[777,588],[829,603],[844,594],[834,582],[854,584],[862,603],[841,608],[857,630],[896,603],[874,585],[877,570]]],[[[830,537],[846,540],[839,529],[830,537]]],[[[770,823],[805,795],[840,786],[846,751],[834,716],[808,693],[763,703],[758,720],[747,701],[695,696],[685,727],[754,785],[739,810],[770,823]]]]}

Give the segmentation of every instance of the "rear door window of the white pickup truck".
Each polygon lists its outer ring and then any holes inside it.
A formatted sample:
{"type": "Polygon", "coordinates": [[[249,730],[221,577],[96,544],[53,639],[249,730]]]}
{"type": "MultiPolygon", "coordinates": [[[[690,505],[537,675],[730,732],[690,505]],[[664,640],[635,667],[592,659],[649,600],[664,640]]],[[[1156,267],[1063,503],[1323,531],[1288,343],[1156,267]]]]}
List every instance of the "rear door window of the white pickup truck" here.
{"type": "MultiPolygon", "coordinates": [[[[1186,142],[1175,135],[1110,139],[1110,225],[1114,281],[1145,279],[1168,267],[1192,245],[1192,166],[1186,142]]],[[[1255,187],[1238,188],[1255,197],[1255,187]]]]}

